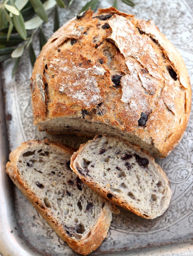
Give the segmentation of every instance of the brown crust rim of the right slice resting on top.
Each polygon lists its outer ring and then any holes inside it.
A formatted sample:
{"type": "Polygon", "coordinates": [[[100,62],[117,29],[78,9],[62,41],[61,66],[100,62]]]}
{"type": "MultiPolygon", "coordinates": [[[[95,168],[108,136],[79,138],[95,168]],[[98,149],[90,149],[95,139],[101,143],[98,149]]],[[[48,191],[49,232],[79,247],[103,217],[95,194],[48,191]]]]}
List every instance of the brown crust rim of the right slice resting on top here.
{"type": "MultiPolygon", "coordinates": [[[[103,134],[104,136],[106,136],[106,134],[103,134]]],[[[100,136],[100,135],[99,135],[100,136]]],[[[95,139],[98,137],[98,135],[96,135],[92,140],[89,140],[87,143],[84,143],[82,144],[79,149],[73,153],[72,157],[71,157],[71,160],[70,160],[70,167],[71,169],[79,176],[79,178],[85,182],[89,187],[91,187],[94,191],[96,191],[98,194],[100,194],[102,197],[106,198],[107,200],[115,203],[116,205],[118,206],[121,206],[122,208],[126,209],[126,210],[129,210],[135,214],[137,214],[138,216],[141,216],[143,218],[147,218],[147,219],[153,219],[152,217],[146,215],[146,214],[143,214],[141,211],[139,211],[138,209],[134,208],[132,205],[128,204],[127,202],[124,202],[122,200],[120,200],[120,198],[116,195],[114,195],[113,197],[107,197],[108,193],[109,193],[109,190],[106,189],[106,188],[102,188],[100,186],[98,186],[97,182],[95,182],[94,179],[92,179],[90,176],[85,176],[85,175],[82,175],[80,172],[77,171],[77,168],[76,168],[76,158],[77,156],[79,156],[85,149],[85,145],[88,145],[90,144],[91,142],[95,141],[95,139]]],[[[116,139],[116,137],[115,137],[116,139]]],[[[117,139],[121,140],[120,138],[117,137],[117,139]]],[[[128,145],[128,148],[131,147],[131,144],[129,144],[127,141],[125,140],[122,140],[124,141],[124,143],[126,145],[128,145]]],[[[136,152],[141,152],[141,148],[138,146],[138,145],[132,145],[132,147],[135,149],[136,152]]],[[[167,197],[168,197],[168,200],[167,200],[167,205],[164,206],[165,209],[167,209],[168,205],[169,205],[169,202],[170,202],[170,199],[171,199],[171,189],[169,188],[169,180],[167,179],[167,176],[165,174],[165,172],[161,169],[161,167],[155,162],[154,158],[146,151],[143,151],[147,156],[148,158],[151,160],[151,164],[153,164],[155,166],[155,169],[157,172],[160,173],[160,175],[162,176],[162,179],[166,181],[167,183],[167,197]]],[[[97,157],[97,156],[95,156],[97,157]]],[[[163,212],[162,212],[163,213],[163,212]]],[[[161,214],[162,214],[161,213],[161,214]]],[[[161,215],[160,214],[160,215],[161,215]]],[[[158,216],[160,216],[158,215],[158,216]]],[[[156,216],[156,217],[158,217],[156,216]]],[[[155,218],[155,217],[154,217],[155,218]]]]}

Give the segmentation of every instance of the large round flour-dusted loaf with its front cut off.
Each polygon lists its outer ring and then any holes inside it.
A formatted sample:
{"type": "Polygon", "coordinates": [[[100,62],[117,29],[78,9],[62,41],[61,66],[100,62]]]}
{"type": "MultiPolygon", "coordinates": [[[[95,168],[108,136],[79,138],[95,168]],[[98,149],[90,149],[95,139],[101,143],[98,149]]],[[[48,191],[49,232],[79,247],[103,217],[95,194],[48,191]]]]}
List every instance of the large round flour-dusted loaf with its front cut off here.
{"type": "Polygon", "coordinates": [[[152,21],[87,11],[44,45],[31,81],[34,124],[48,133],[116,135],[164,157],[180,141],[191,88],[182,57],[152,21]]]}

